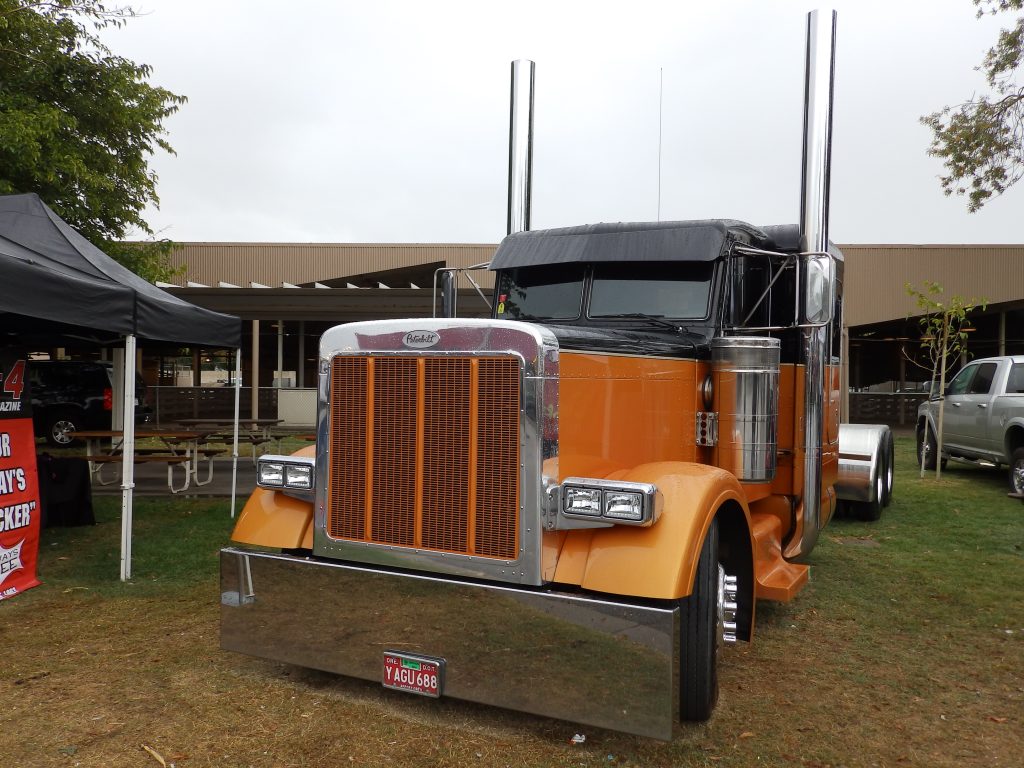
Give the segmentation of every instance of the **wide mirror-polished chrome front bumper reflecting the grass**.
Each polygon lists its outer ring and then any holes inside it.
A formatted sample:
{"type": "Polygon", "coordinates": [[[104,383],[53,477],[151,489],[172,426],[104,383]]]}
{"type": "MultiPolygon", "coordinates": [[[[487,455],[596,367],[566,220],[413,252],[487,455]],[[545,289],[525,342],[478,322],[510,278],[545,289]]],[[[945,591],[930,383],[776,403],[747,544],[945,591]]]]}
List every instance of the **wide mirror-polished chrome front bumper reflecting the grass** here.
{"type": "Polygon", "coordinates": [[[680,611],[288,555],[220,553],[220,645],[380,681],[445,662],[442,695],[671,739],[680,611]]]}

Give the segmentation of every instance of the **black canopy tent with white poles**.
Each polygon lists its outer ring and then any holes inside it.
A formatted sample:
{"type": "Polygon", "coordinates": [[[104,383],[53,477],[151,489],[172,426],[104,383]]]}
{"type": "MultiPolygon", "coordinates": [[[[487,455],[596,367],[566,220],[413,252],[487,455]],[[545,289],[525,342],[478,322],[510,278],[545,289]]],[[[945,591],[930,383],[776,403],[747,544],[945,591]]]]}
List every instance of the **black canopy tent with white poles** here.
{"type": "MultiPolygon", "coordinates": [[[[22,339],[40,332],[124,338],[121,578],[129,579],[135,341],[239,349],[241,319],[189,304],[139,278],[30,194],[0,197],[0,330],[22,339]]],[[[238,365],[236,371],[237,465],[238,365]]]]}

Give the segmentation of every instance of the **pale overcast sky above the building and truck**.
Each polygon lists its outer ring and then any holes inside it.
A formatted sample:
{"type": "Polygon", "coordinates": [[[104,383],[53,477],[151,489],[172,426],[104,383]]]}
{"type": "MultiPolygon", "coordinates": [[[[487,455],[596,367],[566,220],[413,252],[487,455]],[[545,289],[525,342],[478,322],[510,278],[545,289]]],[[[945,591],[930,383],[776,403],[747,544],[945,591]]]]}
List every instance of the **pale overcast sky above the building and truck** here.
{"type": "MultiPolygon", "coordinates": [[[[786,0],[136,0],[104,33],[188,97],[160,154],[161,237],[497,243],[510,61],[537,62],[535,228],[793,222],[806,12],[786,0]]],[[[968,214],[919,118],[984,89],[1011,17],[970,0],[838,1],[831,239],[1021,243],[1024,184],[968,214]]]]}

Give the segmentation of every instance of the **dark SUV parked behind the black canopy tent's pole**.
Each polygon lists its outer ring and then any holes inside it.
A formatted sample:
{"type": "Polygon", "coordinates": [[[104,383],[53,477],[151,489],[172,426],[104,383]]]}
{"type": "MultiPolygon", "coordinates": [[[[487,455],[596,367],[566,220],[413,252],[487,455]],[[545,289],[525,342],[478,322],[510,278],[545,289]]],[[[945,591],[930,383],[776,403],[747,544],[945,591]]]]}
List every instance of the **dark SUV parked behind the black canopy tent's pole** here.
{"type": "MultiPolygon", "coordinates": [[[[114,411],[114,367],[110,362],[30,360],[29,382],[36,436],[70,445],[80,429],[110,429],[114,411]]],[[[150,420],[145,383],[135,379],[135,421],[150,420]]]]}

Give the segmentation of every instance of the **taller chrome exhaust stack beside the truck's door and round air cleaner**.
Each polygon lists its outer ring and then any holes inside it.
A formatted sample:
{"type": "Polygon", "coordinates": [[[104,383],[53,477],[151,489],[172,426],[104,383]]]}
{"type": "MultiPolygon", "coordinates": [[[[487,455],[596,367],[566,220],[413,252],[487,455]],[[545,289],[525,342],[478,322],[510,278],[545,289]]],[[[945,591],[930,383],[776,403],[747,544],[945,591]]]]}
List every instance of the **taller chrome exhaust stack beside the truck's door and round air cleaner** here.
{"type": "MultiPolygon", "coordinates": [[[[804,76],[804,162],[800,189],[800,249],[828,250],[828,187],[831,165],[833,95],[836,70],[836,11],[807,14],[807,59],[804,76]]],[[[805,265],[806,267],[806,265],[805,265]]],[[[807,280],[811,270],[802,268],[807,280]]],[[[802,289],[805,296],[808,292],[802,289]]],[[[820,297],[822,303],[831,300],[820,297]]],[[[839,322],[839,318],[836,318],[839,322]]],[[[805,328],[804,351],[804,496],[799,542],[787,556],[807,554],[818,539],[821,515],[821,444],[824,431],[824,383],[828,328],[805,328]]],[[[831,504],[833,499],[825,500],[831,504]]],[[[825,518],[827,519],[827,517],[825,518]]]]}

